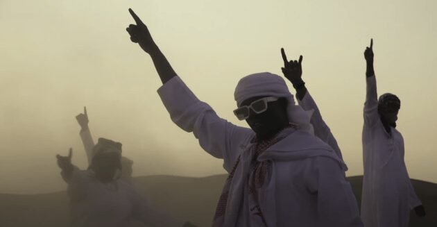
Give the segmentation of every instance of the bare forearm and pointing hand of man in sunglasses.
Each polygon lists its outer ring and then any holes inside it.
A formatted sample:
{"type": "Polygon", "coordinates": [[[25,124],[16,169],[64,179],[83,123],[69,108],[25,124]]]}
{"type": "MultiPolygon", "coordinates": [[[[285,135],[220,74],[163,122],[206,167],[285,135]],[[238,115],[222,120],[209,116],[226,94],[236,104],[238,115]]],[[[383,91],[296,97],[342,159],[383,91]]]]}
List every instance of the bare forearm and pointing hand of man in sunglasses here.
{"type": "Polygon", "coordinates": [[[142,22],[141,19],[135,14],[132,9],[129,9],[130,15],[135,19],[136,24],[130,24],[126,31],[130,35],[130,40],[139,44],[146,53],[148,53],[155,65],[155,69],[160,75],[162,83],[166,83],[171,78],[176,76],[175,71],[171,67],[169,61],[165,58],[164,54],[153,41],[151,33],[148,31],[146,24],[142,22]]]}

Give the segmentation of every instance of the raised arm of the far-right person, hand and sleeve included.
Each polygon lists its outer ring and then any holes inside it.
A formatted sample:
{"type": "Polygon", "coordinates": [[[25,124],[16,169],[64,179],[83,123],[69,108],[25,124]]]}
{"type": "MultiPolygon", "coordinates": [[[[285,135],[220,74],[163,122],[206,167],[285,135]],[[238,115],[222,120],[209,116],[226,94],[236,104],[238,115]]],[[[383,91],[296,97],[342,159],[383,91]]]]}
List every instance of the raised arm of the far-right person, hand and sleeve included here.
{"type": "Polygon", "coordinates": [[[370,47],[364,51],[366,59],[366,103],[364,103],[364,124],[372,126],[379,120],[378,96],[375,71],[373,69],[373,39],[370,40],[370,47]]]}

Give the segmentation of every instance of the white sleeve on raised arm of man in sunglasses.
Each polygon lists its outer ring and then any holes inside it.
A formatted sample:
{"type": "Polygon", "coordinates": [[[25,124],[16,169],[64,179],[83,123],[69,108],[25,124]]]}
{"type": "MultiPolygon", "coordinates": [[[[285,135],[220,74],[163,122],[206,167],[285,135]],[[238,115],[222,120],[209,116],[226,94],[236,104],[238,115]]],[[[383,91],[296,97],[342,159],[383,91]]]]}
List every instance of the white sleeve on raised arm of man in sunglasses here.
{"type": "Polygon", "coordinates": [[[193,132],[200,146],[214,157],[222,158],[223,167],[230,172],[242,146],[248,144],[254,133],[218,117],[178,76],[164,83],[157,92],[171,120],[184,131],[193,132]]]}

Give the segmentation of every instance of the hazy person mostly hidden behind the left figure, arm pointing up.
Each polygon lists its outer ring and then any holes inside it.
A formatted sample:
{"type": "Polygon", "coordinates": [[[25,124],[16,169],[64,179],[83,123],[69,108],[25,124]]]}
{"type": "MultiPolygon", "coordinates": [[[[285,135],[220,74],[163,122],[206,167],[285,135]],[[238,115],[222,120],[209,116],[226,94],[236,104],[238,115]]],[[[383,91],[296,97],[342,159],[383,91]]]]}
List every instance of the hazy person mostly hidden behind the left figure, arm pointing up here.
{"type": "MultiPolygon", "coordinates": [[[[83,113],[76,116],[76,120],[80,125],[80,138],[82,139],[85,152],[87,153],[88,165],[91,164],[92,160],[92,149],[94,147],[94,140],[92,140],[91,131],[89,130],[89,119],[87,113],[87,107],[83,108],[83,113]]],[[[121,179],[125,180],[127,183],[132,183],[132,165],[133,161],[129,158],[121,156],[121,179]]]]}

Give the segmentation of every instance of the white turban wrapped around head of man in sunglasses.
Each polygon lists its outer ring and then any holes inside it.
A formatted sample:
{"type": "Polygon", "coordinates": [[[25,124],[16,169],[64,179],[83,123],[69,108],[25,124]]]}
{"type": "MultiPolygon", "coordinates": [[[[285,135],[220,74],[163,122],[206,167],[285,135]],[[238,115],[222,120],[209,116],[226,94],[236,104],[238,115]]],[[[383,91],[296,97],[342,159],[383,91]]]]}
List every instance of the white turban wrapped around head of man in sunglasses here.
{"type": "Polygon", "coordinates": [[[235,87],[234,98],[237,106],[246,99],[255,96],[274,96],[287,100],[286,111],[291,124],[295,124],[298,130],[306,131],[314,135],[313,127],[309,123],[314,110],[305,111],[302,107],[295,105],[293,94],[289,92],[284,79],[281,76],[262,72],[251,74],[241,78],[235,87]]]}

